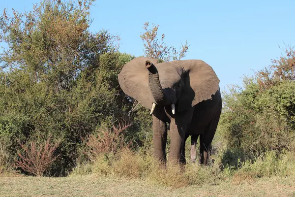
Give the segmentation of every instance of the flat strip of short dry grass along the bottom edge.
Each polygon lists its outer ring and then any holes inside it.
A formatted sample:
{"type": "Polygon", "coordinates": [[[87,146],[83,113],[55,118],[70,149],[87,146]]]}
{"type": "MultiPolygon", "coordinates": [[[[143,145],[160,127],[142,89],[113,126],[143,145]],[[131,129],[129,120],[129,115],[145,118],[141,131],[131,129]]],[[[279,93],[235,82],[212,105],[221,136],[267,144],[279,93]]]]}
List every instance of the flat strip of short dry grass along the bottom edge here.
{"type": "Polygon", "coordinates": [[[196,197],[295,196],[295,178],[226,180],[183,188],[163,187],[143,179],[105,178],[95,175],[65,178],[0,177],[1,197],[196,197]]]}

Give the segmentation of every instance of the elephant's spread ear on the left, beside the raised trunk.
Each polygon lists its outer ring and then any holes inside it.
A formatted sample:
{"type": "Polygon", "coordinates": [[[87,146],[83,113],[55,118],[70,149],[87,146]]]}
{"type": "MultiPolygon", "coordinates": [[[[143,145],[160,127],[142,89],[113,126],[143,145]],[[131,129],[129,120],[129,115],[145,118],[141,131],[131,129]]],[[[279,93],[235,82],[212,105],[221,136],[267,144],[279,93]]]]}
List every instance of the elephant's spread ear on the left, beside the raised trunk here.
{"type": "Polygon", "coordinates": [[[118,74],[118,80],[123,92],[138,100],[143,106],[151,109],[155,102],[148,87],[148,69],[146,61],[149,60],[154,65],[158,63],[156,59],[139,57],[131,60],[123,66],[118,74]]]}

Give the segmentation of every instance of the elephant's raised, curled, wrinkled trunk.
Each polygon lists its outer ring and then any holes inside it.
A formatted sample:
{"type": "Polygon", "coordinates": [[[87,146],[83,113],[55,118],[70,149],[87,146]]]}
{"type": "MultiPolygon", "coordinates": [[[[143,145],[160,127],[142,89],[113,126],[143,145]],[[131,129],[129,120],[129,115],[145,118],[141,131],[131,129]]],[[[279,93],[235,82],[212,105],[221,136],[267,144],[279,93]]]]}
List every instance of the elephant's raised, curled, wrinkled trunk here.
{"type": "Polygon", "coordinates": [[[155,99],[157,104],[167,105],[168,101],[163,93],[163,89],[160,84],[159,73],[156,66],[154,66],[150,61],[146,61],[146,68],[148,68],[149,71],[148,85],[153,95],[153,98],[155,99]]]}

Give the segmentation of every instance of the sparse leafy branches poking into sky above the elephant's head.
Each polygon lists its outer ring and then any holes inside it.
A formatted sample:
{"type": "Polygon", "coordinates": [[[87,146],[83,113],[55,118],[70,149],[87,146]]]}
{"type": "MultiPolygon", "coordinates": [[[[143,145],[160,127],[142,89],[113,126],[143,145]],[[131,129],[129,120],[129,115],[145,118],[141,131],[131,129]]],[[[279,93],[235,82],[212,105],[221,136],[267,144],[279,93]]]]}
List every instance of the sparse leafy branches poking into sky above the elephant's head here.
{"type": "Polygon", "coordinates": [[[165,34],[161,35],[161,38],[158,38],[158,28],[159,25],[152,25],[152,28],[149,29],[149,23],[144,24],[143,29],[145,32],[140,35],[144,41],[145,47],[145,56],[148,58],[159,59],[160,61],[169,62],[171,58],[173,60],[180,60],[185,57],[189,45],[187,41],[184,45],[181,44],[180,51],[177,51],[174,46],[167,46],[163,41],[165,34]]]}

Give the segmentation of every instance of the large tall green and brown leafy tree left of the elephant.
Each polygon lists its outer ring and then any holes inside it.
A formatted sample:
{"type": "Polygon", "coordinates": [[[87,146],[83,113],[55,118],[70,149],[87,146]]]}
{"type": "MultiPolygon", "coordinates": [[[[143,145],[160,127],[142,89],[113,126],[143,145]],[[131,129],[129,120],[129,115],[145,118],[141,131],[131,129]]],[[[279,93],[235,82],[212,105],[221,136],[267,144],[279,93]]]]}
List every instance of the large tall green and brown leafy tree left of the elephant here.
{"type": "Polygon", "coordinates": [[[0,41],[8,45],[0,54],[0,138],[12,157],[21,149],[16,138],[60,139],[57,175],[75,164],[82,138],[102,123],[130,122],[132,103],[117,75],[134,57],[118,52],[118,36],[89,32],[92,3],[43,0],[0,17],[0,41]]]}

